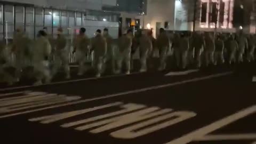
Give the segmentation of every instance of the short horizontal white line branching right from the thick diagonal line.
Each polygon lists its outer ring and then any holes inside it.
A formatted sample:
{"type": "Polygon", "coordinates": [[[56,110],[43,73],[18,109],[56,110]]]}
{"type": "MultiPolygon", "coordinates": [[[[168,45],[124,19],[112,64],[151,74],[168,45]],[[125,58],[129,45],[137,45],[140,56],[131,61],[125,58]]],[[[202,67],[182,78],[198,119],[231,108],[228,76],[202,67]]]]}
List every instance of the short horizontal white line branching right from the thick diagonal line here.
{"type": "Polygon", "coordinates": [[[205,135],[195,141],[256,140],[256,133],[205,135]]]}

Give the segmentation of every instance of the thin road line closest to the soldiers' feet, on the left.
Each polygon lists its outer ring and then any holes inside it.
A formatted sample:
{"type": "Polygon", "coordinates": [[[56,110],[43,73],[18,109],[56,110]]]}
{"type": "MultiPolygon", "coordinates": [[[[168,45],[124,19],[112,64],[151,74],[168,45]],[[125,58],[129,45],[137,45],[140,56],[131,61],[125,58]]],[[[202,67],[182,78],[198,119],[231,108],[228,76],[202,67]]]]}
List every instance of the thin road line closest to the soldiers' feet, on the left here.
{"type": "MultiPolygon", "coordinates": [[[[142,73],[132,73],[130,75],[136,75],[136,74],[142,74],[142,73]]],[[[127,75],[126,74],[121,74],[121,75],[111,75],[111,76],[105,76],[105,77],[91,77],[91,78],[74,79],[74,80],[70,80],[70,81],[62,81],[62,82],[55,82],[55,83],[42,84],[42,85],[25,85],[25,86],[17,86],[17,87],[8,87],[8,88],[0,89],[0,91],[15,90],[15,89],[25,89],[25,88],[39,87],[39,86],[45,86],[45,85],[66,84],[66,83],[88,81],[88,80],[93,80],[93,79],[104,79],[104,78],[122,77],[122,76],[127,76],[127,75]]]]}

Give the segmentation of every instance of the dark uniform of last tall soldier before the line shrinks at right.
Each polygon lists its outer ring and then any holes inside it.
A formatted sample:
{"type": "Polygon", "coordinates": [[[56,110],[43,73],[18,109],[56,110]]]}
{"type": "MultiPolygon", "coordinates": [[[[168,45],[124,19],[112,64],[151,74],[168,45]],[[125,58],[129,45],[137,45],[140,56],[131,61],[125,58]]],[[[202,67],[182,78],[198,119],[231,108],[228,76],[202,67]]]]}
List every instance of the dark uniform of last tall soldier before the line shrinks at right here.
{"type": "Polygon", "coordinates": [[[157,37],[157,47],[159,49],[160,57],[160,66],[158,70],[164,70],[166,68],[167,52],[170,47],[170,41],[165,32],[157,37]]]}

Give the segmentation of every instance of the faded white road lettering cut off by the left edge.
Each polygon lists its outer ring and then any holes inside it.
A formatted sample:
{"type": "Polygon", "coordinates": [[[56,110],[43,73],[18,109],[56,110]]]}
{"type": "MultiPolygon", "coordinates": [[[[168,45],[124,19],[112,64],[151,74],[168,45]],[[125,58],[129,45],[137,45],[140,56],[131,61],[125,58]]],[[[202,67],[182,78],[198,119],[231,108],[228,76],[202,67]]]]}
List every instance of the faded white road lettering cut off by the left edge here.
{"type": "Polygon", "coordinates": [[[69,101],[76,101],[81,99],[81,97],[78,96],[67,97],[66,95],[58,95],[54,93],[27,91],[17,93],[6,93],[5,96],[13,94],[20,94],[21,96],[0,99],[0,118],[32,113],[34,111],[47,109],[47,106],[58,105],[61,103],[64,104],[69,101]]]}

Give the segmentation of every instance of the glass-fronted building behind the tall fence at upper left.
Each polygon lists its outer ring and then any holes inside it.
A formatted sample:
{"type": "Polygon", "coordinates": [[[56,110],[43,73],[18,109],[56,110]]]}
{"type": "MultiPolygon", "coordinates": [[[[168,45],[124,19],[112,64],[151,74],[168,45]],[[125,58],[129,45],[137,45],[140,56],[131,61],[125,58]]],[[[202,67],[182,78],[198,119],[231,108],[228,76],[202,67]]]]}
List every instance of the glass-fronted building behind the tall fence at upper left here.
{"type": "Polygon", "coordinates": [[[120,13],[103,11],[103,5],[116,5],[116,1],[69,1],[69,0],[8,0],[0,1],[0,38],[12,39],[15,29],[22,28],[30,38],[37,31],[47,28],[47,33],[57,36],[58,27],[71,38],[85,27],[89,37],[97,29],[109,28],[111,36],[118,37],[120,13]],[[79,3],[78,3],[79,2],[79,3]],[[107,3],[109,2],[109,3],[107,3]],[[71,4],[72,3],[72,4],[71,4]],[[76,5],[76,6],[75,6],[76,5]],[[90,7],[91,9],[86,9],[90,7]]]}

